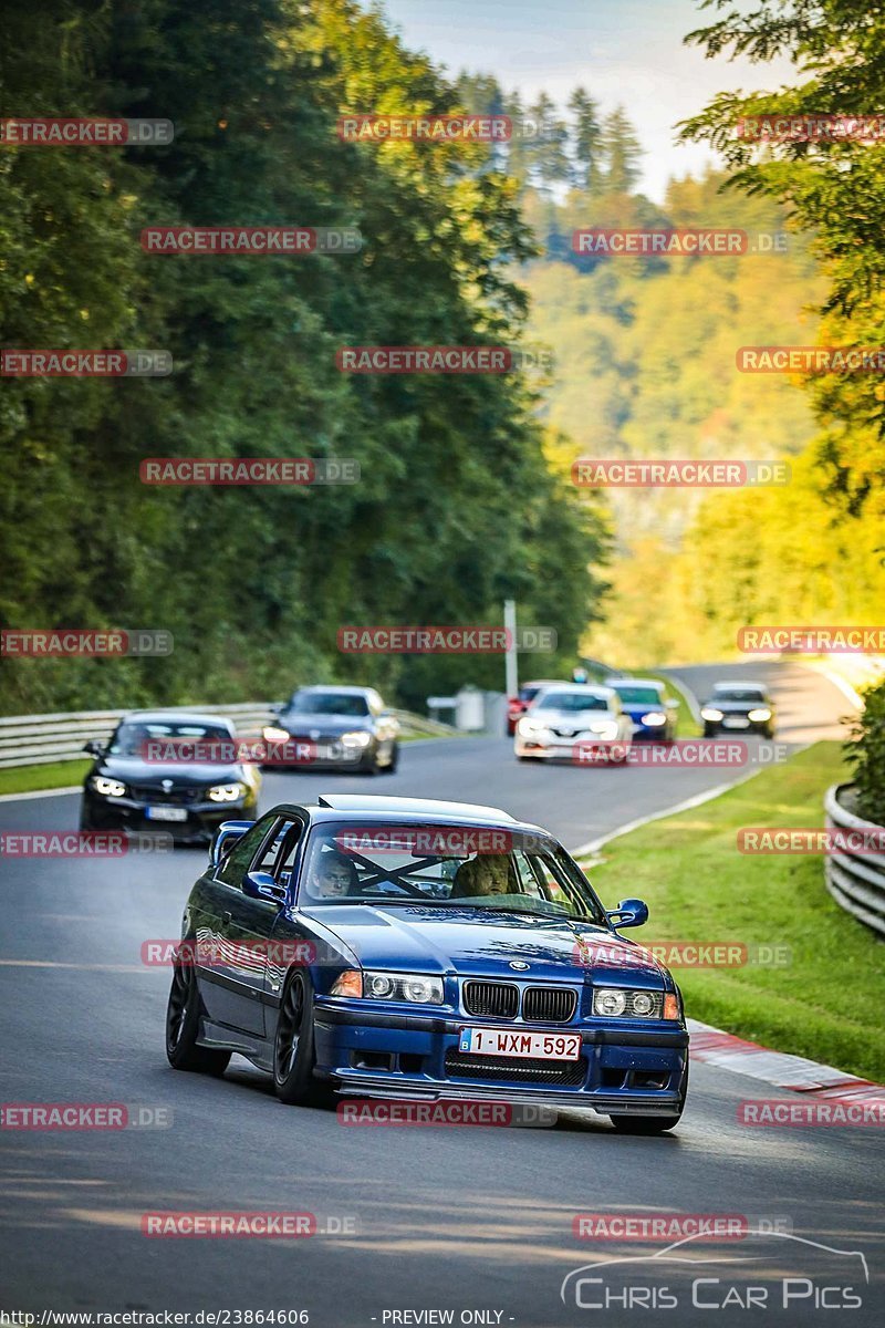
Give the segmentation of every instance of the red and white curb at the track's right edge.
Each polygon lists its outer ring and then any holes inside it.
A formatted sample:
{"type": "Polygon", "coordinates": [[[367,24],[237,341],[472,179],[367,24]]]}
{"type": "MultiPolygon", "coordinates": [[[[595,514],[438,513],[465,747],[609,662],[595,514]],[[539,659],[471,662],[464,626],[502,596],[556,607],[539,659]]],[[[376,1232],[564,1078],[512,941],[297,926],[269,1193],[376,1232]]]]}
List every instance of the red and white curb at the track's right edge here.
{"type": "Polygon", "coordinates": [[[804,1056],[789,1056],[785,1052],[771,1052],[759,1042],[748,1042],[734,1033],[723,1033],[720,1028],[702,1024],[697,1019],[687,1020],[690,1041],[689,1058],[719,1069],[747,1074],[763,1080],[775,1088],[791,1089],[793,1093],[813,1093],[820,1098],[843,1098],[845,1101],[884,1100],[885,1086],[870,1080],[847,1074],[833,1065],[819,1065],[804,1056]]]}

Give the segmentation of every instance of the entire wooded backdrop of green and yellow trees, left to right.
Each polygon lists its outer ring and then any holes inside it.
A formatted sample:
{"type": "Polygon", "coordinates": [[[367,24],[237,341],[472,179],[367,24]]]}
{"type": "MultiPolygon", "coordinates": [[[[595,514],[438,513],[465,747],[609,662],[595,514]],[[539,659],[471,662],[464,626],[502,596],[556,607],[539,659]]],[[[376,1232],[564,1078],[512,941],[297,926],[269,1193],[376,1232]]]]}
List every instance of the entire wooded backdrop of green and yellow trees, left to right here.
{"type": "MultiPolygon", "coordinates": [[[[283,695],[366,680],[419,706],[494,657],[348,657],[342,624],[552,625],[628,664],[724,657],[759,622],[885,603],[876,374],[752,376],[743,344],[885,343],[885,145],[734,135],[742,114],[878,105],[882,28],[851,0],[774,23],[713,0],[689,40],[791,56],[797,84],[683,126],[726,169],[640,191],[629,108],[443,77],[350,0],[52,0],[4,20],[19,114],[159,117],[162,147],[0,149],[7,347],[145,347],[153,380],[0,380],[3,625],[162,627],[157,660],[0,660],[0,710],[283,695]],[[877,54],[878,52],[878,54],[877,54]],[[184,74],[184,70],[187,73],[184,74]],[[811,70],[811,72],[808,72],[811,70]],[[851,74],[847,74],[851,70],[851,74]],[[34,93],[34,89],[38,89],[34,93]],[[861,105],[862,104],[862,105],[861,105]],[[491,112],[507,142],[344,142],[348,113],[491,112]],[[353,254],[154,256],[157,224],[357,227],[353,254]],[[581,255],[576,227],[738,227],[764,252],[581,255]],[[772,238],[776,238],[772,240],[772,238]],[[342,345],[548,347],[553,368],[346,376],[342,345]],[[146,457],[356,458],[328,487],[149,489],[146,457]],[[762,490],[571,483],[590,457],[787,459],[762,490]]],[[[723,62],[723,81],[727,65],[723,62]]]]}

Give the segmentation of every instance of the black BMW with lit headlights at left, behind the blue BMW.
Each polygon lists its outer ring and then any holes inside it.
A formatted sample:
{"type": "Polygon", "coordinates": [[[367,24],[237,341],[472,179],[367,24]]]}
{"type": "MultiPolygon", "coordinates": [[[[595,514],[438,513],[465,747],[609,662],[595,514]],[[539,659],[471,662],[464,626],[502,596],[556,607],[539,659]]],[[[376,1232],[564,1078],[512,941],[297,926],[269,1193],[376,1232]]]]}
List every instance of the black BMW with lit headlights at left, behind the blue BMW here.
{"type": "Polygon", "coordinates": [[[84,750],[96,761],[81,830],[163,830],[176,843],[208,843],[223,821],[257,814],[261,776],[235,760],[234,726],[216,714],[134,712],[107,744],[84,750]]]}

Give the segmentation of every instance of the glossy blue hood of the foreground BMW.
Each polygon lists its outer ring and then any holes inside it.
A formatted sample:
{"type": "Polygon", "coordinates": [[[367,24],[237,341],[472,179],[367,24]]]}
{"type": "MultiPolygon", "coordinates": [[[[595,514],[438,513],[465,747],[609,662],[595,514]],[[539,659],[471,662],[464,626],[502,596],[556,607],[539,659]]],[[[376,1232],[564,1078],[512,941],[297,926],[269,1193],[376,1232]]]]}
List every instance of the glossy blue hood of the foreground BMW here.
{"type": "Polygon", "coordinates": [[[486,977],[604,973],[609,980],[617,972],[654,977],[654,985],[662,985],[663,969],[654,959],[644,959],[630,942],[592,923],[507,914],[486,904],[336,904],[308,912],[344,940],[364,968],[486,977]],[[515,971],[511,960],[529,968],[515,971]]]}

